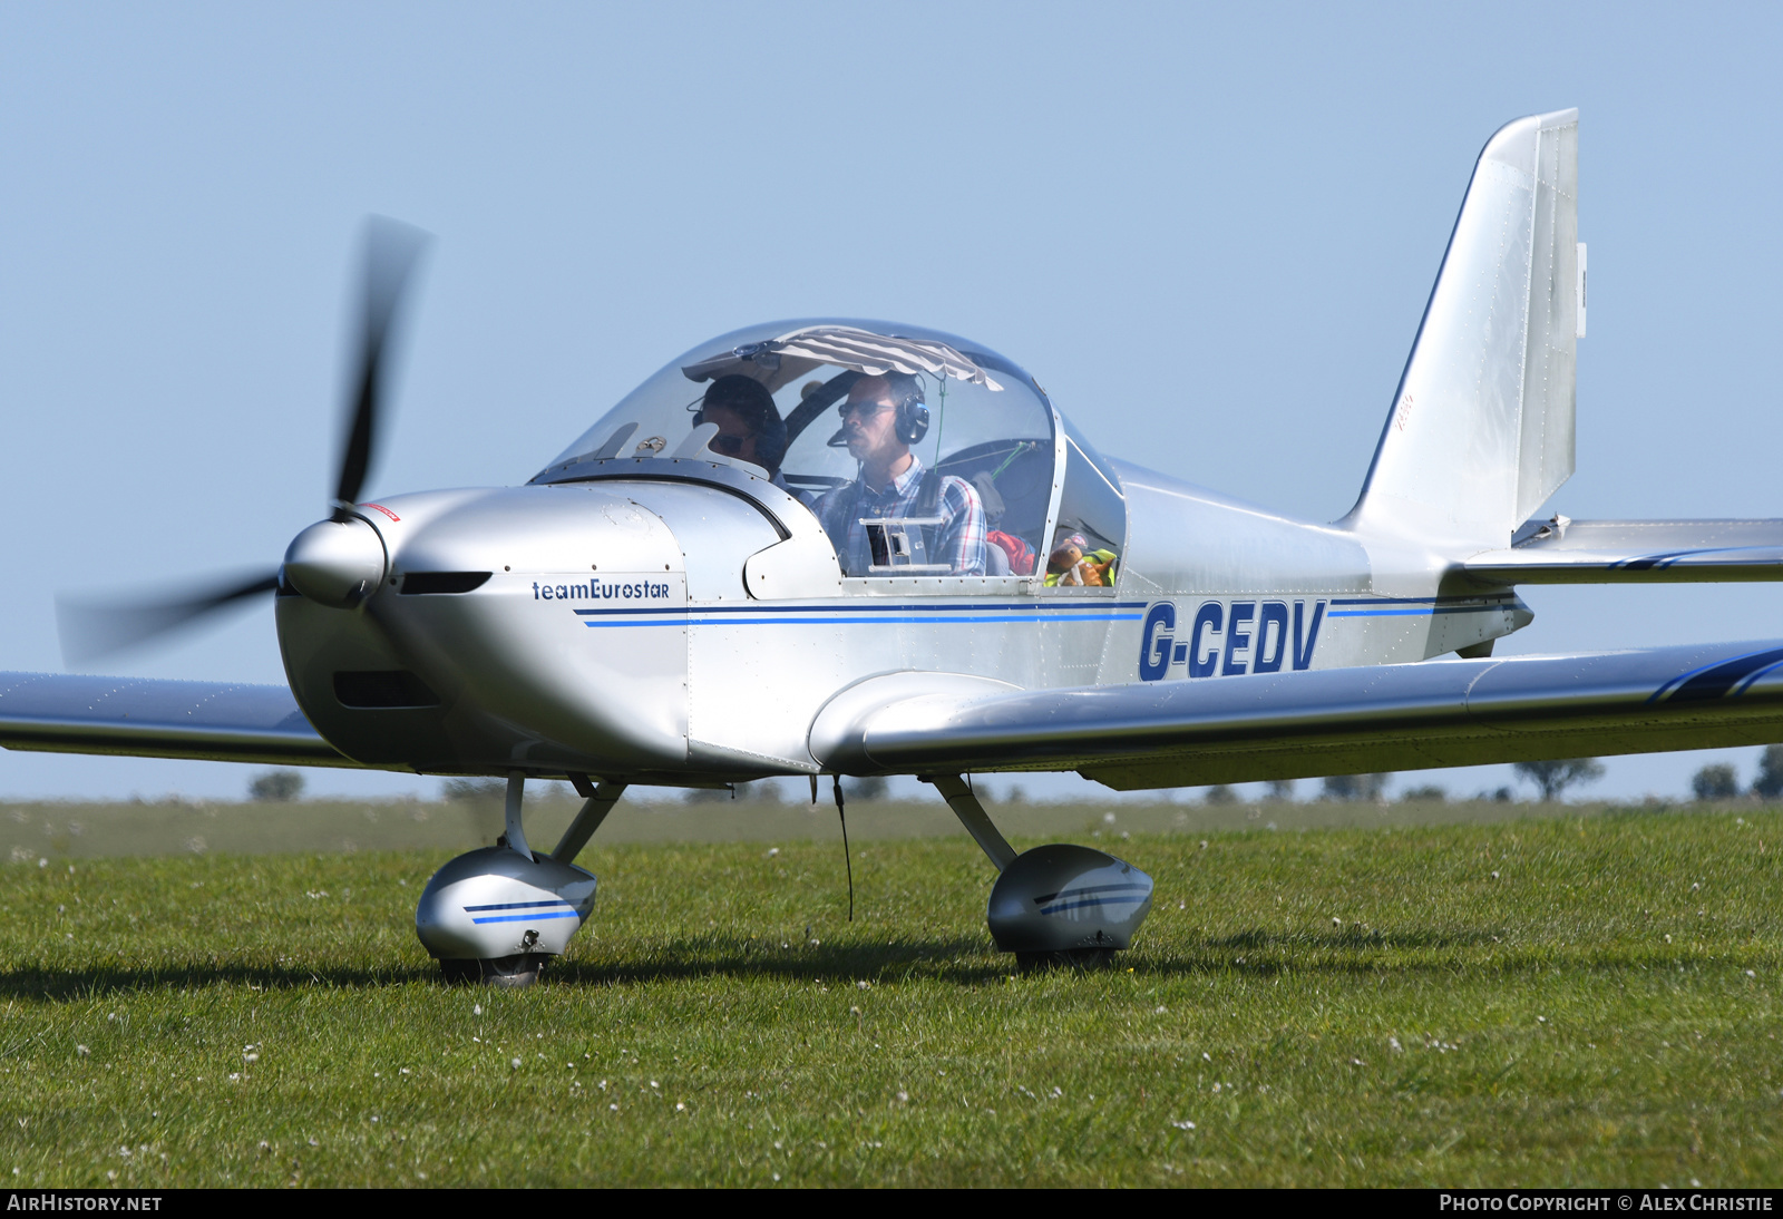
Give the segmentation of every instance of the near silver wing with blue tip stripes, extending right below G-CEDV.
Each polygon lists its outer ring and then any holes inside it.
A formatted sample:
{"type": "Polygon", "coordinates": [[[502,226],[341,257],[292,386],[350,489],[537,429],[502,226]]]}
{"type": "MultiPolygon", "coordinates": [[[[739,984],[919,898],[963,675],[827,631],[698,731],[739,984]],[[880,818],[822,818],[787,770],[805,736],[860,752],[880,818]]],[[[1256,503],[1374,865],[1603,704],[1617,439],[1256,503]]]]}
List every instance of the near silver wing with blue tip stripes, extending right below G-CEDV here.
{"type": "Polygon", "coordinates": [[[1077,770],[1118,789],[1783,741],[1783,640],[931,693],[858,722],[883,772],[1077,770]]]}

